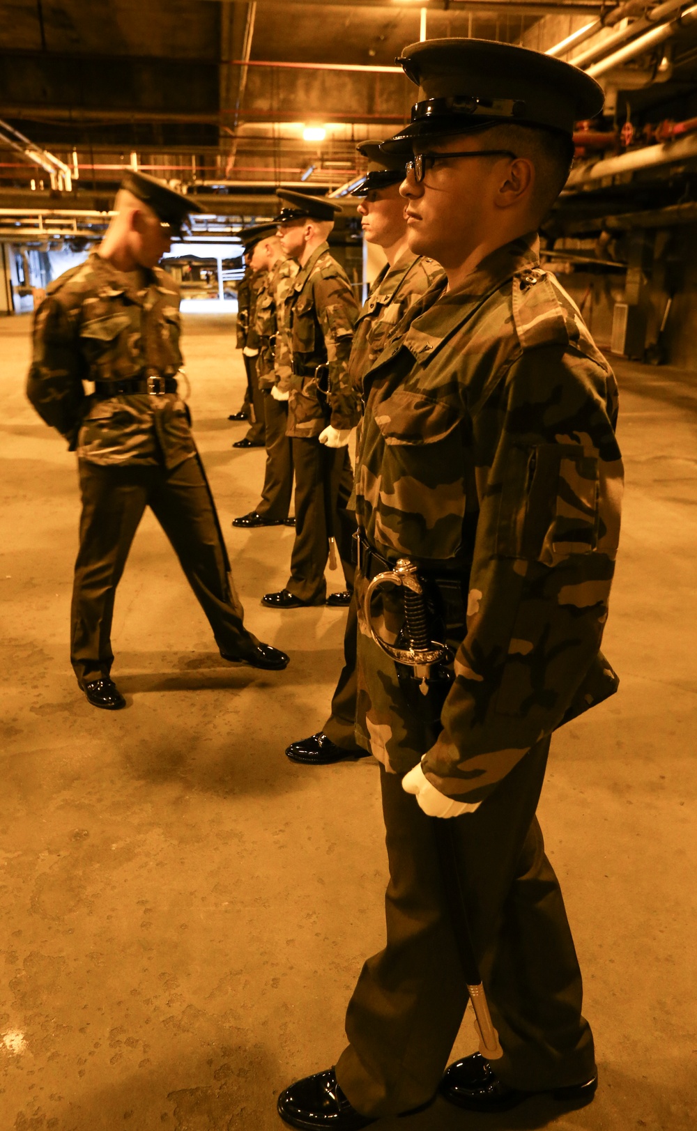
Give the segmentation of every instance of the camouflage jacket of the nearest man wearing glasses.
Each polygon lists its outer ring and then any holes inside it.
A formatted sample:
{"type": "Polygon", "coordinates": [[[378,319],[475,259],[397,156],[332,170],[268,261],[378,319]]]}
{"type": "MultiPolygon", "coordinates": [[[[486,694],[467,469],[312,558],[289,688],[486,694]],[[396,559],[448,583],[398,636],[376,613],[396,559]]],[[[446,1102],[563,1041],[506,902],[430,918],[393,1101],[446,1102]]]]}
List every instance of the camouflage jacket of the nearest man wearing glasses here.
{"type": "MultiPolygon", "coordinates": [[[[424,754],[438,789],[481,801],[617,688],[600,653],[622,487],[617,385],[532,235],[453,292],[436,283],[365,374],[359,524],[384,558],[439,579],[455,659],[431,726],[361,611],[356,735],[397,772],[424,754]]],[[[373,605],[393,640],[395,593],[373,605]]]]}

